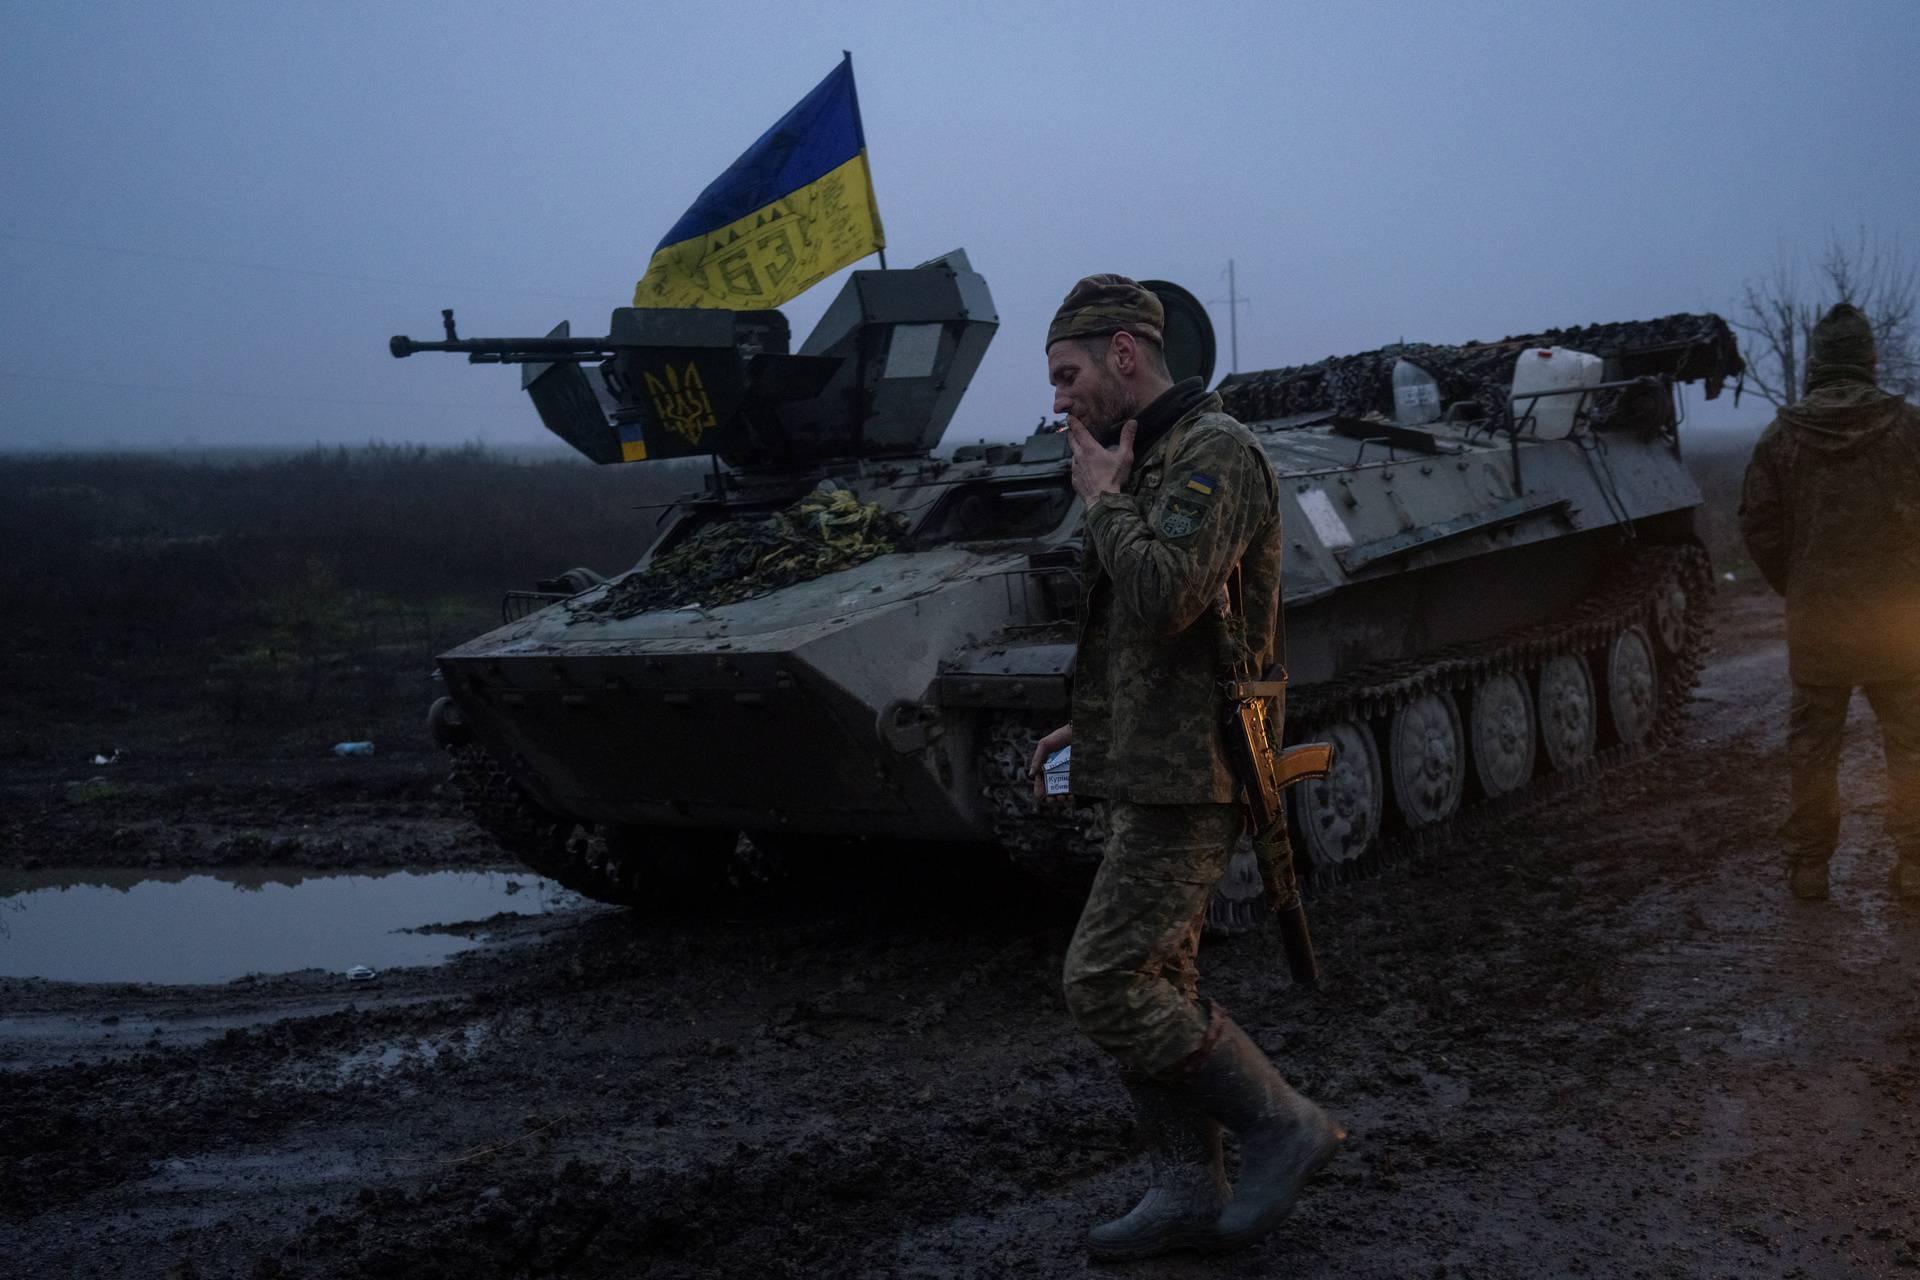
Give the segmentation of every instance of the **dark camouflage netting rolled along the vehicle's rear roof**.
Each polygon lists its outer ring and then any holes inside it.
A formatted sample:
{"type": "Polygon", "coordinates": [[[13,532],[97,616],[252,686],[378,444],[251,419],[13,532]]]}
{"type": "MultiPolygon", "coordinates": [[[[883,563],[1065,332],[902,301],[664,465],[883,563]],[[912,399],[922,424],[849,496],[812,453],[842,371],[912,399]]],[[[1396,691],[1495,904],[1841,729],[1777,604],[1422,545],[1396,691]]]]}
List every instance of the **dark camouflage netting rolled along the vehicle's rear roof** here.
{"type": "MultiPolygon", "coordinates": [[[[1507,395],[1513,363],[1528,347],[1572,347],[1619,361],[1620,376],[1668,374],[1676,382],[1707,380],[1707,399],[1745,365],[1734,330],[1716,315],[1670,315],[1661,320],[1549,328],[1500,342],[1442,347],[1394,344],[1359,355],[1332,355],[1317,365],[1233,374],[1219,384],[1227,413],[1242,422],[1286,418],[1296,413],[1340,413],[1363,418],[1394,409],[1394,361],[1407,359],[1440,384],[1444,403],[1476,403],[1490,426],[1509,424],[1507,395]]],[[[1603,411],[1603,409],[1601,409],[1603,411]]]]}

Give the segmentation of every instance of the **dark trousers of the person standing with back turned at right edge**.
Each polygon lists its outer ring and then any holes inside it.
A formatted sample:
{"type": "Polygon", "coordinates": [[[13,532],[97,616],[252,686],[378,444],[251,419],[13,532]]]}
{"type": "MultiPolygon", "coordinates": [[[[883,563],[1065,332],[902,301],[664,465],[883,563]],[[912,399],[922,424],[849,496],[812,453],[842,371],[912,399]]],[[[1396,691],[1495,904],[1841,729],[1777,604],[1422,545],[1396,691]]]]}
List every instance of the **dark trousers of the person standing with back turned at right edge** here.
{"type": "MultiPolygon", "coordinates": [[[[1864,685],[1887,762],[1887,835],[1903,860],[1920,862],[1920,677],[1864,685]]],[[[1793,812],[1788,858],[1826,865],[1839,839],[1839,748],[1853,689],[1793,685],[1788,768],[1793,812]]]]}

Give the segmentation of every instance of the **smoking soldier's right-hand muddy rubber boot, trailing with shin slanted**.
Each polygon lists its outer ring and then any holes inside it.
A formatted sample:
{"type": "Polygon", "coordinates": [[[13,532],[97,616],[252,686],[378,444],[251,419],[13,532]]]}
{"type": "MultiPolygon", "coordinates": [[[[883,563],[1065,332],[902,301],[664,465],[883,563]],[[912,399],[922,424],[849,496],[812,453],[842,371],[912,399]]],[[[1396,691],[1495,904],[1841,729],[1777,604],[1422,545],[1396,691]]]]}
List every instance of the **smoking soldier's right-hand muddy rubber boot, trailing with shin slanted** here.
{"type": "Polygon", "coordinates": [[[1204,1245],[1219,1253],[1279,1226],[1300,1186],[1332,1159],[1346,1134],[1281,1079],[1233,1019],[1219,1009],[1213,1019],[1217,1038],[1187,1075],[1185,1092],[1240,1140],[1240,1184],[1204,1245]]]}

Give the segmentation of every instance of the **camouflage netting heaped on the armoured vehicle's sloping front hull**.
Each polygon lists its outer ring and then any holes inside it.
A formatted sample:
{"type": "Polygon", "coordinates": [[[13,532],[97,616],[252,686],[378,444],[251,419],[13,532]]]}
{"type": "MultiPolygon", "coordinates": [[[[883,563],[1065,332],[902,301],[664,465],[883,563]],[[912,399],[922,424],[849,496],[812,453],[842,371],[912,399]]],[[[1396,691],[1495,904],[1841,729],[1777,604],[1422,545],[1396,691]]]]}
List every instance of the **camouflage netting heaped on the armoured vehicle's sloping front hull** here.
{"type": "Polygon", "coordinates": [[[737,516],[699,530],[672,551],[568,608],[580,618],[632,618],[653,608],[732,604],[885,555],[904,520],[847,489],[814,489],[772,516],[737,516]]]}

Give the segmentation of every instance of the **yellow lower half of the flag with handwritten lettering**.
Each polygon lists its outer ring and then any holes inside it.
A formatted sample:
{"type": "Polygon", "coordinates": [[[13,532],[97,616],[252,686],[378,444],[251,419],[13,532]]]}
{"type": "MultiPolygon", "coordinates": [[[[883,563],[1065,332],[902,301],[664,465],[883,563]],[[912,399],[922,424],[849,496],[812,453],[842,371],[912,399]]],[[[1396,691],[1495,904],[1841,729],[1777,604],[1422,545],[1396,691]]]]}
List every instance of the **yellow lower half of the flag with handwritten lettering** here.
{"type": "Polygon", "coordinates": [[[885,246],[860,152],[718,230],[662,246],[634,286],[634,305],[778,307],[885,246]]]}

